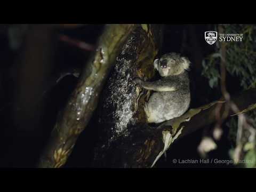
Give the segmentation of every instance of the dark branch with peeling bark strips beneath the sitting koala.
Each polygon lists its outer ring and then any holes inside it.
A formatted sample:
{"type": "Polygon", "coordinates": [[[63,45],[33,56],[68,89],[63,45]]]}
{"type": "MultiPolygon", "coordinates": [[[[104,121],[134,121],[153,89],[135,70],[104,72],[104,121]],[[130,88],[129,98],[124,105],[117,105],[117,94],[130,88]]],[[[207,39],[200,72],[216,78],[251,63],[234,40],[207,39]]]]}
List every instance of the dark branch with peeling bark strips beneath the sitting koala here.
{"type": "MultiPolygon", "coordinates": [[[[246,90],[234,95],[232,98],[239,109],[247,109],[246,111],[253,110],[254,108],[250,106],[256,102],[256,89],[246,90]]],[[[143,145],[135,146],[137,148],[136,151],[139,151],[139,153],[133,155],[134,164],[132,166],[154,166],[164,152],[169,149],[174,140],[180,139],[217,121],[215,118],[215,110],[218,107],[218,103],[222,103],[220,109],[220,115],[222,116],[228,105],[227,102],[223,101],[223,98],[221,98],[220,101],[215,101],[196,109],[190,109],[181,117],[171,119],[160,125],[157,130],[153,130],[151,134],[145,132],[147,136],[145,135],[145,139],[143,140],[145,142],[142,142],[143,145]]],[[[228,116],[233,114],[233,111],[228,111],[228,116]]]]}

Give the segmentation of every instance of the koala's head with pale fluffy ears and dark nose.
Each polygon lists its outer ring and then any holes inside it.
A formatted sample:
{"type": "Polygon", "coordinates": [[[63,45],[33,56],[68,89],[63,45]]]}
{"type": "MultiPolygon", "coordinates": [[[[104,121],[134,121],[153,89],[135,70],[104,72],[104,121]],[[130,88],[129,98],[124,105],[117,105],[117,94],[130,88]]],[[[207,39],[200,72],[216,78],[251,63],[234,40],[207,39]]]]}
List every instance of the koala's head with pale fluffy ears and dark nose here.
{"type": "Polygon", "coordinates": [[[154,68],[158,70],[162,77],[179,75],[189,69],[190,61],[185,57],[180,57],[178,53],[164,54],[160,59],[155,59],[154,68]]]}

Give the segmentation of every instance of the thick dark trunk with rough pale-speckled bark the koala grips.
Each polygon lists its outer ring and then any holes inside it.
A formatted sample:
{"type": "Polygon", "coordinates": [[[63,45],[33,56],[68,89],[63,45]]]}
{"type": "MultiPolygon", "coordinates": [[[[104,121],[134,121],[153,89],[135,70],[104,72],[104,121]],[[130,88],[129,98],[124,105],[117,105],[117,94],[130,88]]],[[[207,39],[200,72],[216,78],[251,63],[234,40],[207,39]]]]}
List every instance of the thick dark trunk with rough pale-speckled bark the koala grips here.
{"type": "Polygon", "coordinates": [[[155,76],[153,61],[161,48],[162,28],[137,28],[118,55],[99,105],[100,133],[93,166],[132,167],[135,163],[138,145],[145,142],[146,135],[136,132],[147,126],[143,103],[150,92],[139,89],[132,80],[155,76]]]}

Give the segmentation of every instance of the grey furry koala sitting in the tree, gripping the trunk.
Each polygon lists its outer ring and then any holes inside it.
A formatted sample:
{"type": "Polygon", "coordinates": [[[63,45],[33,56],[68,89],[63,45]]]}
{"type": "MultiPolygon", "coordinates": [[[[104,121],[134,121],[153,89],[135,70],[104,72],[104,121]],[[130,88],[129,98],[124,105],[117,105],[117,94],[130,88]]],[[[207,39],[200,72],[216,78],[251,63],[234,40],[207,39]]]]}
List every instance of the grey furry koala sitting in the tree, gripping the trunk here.
{"type": "Polygon", "coordinates": [[[162,123],[187,111],[190,104],[189,65],[190,61],[180,54],[167,53],[154,60],[154,68],[161,79],[155,82],[134,79],[139,86],[154,91],[144,106],[148,123],[162,123]]]}

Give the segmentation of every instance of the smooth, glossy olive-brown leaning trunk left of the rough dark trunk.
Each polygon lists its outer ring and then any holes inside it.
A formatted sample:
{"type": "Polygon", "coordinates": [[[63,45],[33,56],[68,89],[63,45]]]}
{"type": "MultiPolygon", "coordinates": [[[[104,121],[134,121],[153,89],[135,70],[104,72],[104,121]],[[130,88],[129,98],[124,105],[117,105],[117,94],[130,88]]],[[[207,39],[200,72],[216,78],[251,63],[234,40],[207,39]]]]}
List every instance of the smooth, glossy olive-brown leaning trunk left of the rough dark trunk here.
{"type": "Polygon", "coordinates": [[[103,83],[135,25],[106,25],[97,50],[87,61],[76,89],[59,114],[39,167],[61,167],[67,161],[78,135],[97,107],[103,83]]]}

